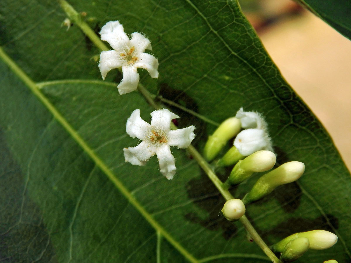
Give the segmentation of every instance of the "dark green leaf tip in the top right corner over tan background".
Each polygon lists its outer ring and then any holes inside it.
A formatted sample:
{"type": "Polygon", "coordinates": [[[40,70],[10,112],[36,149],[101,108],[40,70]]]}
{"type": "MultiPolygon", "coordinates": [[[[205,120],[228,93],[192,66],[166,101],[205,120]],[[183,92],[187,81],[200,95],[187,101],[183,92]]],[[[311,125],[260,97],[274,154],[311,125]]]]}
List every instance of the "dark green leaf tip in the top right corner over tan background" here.
{"type": "Polygon", "coordinates": [[[350,1],[298,0],[298,2],[322,18],[340,34],[351,39],[350,1]]]}

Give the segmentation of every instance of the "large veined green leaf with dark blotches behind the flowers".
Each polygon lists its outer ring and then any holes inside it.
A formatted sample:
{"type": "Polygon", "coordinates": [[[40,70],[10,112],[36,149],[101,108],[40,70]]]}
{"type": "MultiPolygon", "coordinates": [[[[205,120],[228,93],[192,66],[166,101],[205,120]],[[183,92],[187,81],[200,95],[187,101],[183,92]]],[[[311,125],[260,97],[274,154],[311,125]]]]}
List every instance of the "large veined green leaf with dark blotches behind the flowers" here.
{"type": "MultiPolygon", "coordinates": [[[[350,261],[350,174],[237,2],[71,4],[96,31],[119,20],[127,33],[150,38],[160,62],[159,79],[141,72],[150,92],[216,122],[241,106],[263,113],[278,161],[302,161],[306,172],[247,207],[247,216],[268,244],[312,229],[338,235],[334,247],[298,262],[350,261]]],[[[172,149],[172,181],[159,173],[156,157],[145,167],[124,162],[122,148],[138,143],[125,133],[127,118],[139,108],[148,120],[153,109],[139,93],[120,96],[115,83],[100,81],[91,59],[99,50],[76,25],[60,27],[66,15],[57,2],[0,6],[9,56],[0,55],[1,261],[268,261],[240,222],[218,216],[224,199],[186,151],[172,149]]],[[[121,78],[117,70],[108,77],[121,78]]],[[[201,151],[216,126],[171,109],[180,127],[196,125],[201,151]]],[[[258,176],[232,189],[234,196],[242,198],[258,176]]]]}

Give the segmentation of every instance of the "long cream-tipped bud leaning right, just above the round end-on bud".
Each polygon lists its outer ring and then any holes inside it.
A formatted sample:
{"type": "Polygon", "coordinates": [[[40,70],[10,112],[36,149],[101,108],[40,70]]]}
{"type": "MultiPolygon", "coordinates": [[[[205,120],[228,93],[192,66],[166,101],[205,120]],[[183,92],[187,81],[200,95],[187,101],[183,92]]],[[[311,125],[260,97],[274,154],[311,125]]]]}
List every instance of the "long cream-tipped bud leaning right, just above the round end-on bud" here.
{"type": "Polygon", "coordinates": [[[263,196],[271,193],[276,187],[296,181],[305,171],[305,164],[302,162],[288,162],[277,169],[260,177],[252,187],[249,194],[244,198],[244,202],[251,203],[259,200],[263,196]]]}

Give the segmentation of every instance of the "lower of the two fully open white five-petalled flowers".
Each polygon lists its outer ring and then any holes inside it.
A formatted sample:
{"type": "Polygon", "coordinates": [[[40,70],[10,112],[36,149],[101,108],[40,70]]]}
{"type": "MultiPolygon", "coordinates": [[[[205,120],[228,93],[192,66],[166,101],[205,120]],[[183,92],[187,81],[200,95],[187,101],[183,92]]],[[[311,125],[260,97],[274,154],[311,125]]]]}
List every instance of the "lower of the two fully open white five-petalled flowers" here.
{"type": "Polygon", "coordinates": [[[171,120],[179,118],[178,115],[167,109],[155,110],[151,113],[151,124],[140,117],[140,110],[136,109],[127,120],[127,134],[132,138],[142,140],[136,147],[124,148],[126,162],[134,165],[145,165],[151,156],[157,155],[161,173],[167,179],[172,179],[176,173],[176,159],[174,159],[170,146],[186,148],[194,139],[195,127],[170,130],[171,120]]]}

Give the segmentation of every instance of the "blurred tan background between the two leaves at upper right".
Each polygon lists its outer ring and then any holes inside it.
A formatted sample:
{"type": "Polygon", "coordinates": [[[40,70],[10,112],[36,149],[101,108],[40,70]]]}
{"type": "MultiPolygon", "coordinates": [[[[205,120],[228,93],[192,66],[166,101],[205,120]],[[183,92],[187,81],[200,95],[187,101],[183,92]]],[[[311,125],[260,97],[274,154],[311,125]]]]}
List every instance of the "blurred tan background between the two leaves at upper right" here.
{"type": "Polygon", "coordinates": [[[351,170],[351,41],[292,0],[239,0],[288,83],[351,170]]]}

